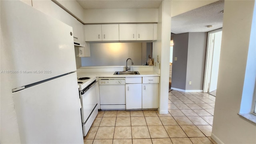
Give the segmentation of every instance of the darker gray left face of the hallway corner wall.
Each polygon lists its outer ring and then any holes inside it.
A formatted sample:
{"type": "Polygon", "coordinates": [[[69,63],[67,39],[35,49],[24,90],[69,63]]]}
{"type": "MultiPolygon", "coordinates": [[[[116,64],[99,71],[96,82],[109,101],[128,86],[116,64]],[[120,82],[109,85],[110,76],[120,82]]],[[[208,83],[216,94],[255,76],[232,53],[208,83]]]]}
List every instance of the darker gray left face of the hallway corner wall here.
{"type": "Polygon", "coordinates": [[[172,87],[185,90],[188,58],[188,33],[174,35],[173,41],[172,87]],[[175,57],[177,57],[177,61],[174,61],[175,57]]]}

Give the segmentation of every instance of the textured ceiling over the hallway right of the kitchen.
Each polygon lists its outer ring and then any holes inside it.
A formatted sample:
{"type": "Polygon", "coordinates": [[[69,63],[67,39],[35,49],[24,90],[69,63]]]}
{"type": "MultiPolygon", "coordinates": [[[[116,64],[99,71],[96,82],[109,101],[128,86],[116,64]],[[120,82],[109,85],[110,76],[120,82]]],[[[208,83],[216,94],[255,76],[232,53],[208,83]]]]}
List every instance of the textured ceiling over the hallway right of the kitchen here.
{"type": "Polygon", "coordinates": [[[196,8],[194,10],[172,17],[171,32],[210,32],[222,28],[224,0],[196,8]],[[207,28],[213,25],[212,28],[207,28]]]}

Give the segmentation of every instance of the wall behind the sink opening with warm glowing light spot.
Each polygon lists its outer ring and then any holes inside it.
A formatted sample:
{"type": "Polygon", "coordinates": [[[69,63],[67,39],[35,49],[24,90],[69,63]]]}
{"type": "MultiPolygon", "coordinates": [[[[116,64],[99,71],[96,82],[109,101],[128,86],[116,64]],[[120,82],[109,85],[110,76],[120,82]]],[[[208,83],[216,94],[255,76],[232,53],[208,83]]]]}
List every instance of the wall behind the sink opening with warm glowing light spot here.
{"type": "Polygon", "coordinates": [[[127,58],[132,58],[134,65],[142,65],[141,50],[139,42],[91,43],[91,56],[81,58],[82,66],[125,66],[127,58]]]}

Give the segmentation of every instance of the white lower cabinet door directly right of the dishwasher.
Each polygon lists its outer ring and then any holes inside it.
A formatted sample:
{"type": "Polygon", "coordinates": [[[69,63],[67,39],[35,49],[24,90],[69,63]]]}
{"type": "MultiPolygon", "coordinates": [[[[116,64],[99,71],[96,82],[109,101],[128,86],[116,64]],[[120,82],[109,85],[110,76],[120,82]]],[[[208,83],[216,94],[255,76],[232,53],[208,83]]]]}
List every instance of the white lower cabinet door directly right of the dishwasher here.
{"type": "Polygon", "coordinates": [[[141,84],[126,84],[126,109],[142,108],[141,84]]]}

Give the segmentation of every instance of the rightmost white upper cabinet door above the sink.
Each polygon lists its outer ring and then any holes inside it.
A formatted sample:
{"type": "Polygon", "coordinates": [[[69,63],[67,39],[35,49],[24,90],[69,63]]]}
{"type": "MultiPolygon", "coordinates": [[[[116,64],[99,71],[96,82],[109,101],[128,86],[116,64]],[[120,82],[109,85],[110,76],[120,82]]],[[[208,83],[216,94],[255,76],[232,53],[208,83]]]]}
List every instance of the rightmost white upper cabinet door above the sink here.
{"type": "Polygon", "coordinates": [[[137,40],[153,40],[153,24],[136,25],[137,40]]]}

